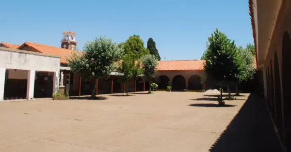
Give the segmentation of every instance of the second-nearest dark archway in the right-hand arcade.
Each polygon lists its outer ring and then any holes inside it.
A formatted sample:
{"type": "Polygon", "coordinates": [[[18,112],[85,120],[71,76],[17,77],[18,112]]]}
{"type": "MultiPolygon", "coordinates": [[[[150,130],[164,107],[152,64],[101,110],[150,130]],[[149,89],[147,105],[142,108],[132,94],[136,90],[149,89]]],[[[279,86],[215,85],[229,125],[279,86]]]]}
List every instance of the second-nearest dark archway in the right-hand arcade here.
{"type": "Polygon", "coordinates": [[[280,84],[280,71],[277,52],[274,54],[274,83],[275,83],[275,103],[276,103],[276,122],[277,129],[280,137],[282,138],[282,101],[281,101],[281,84],[280,84]]]}

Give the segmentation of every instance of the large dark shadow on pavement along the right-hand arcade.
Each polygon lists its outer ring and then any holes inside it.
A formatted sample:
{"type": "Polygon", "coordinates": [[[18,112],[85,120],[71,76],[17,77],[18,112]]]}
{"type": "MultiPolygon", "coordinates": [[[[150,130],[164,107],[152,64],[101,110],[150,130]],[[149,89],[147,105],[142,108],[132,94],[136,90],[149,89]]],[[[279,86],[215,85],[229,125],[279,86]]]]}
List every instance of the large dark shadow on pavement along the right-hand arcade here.
{"type": "Polygon", "coordinates": [[[209,152],[283,152],[265,102],[251,94],[209,152]]]}

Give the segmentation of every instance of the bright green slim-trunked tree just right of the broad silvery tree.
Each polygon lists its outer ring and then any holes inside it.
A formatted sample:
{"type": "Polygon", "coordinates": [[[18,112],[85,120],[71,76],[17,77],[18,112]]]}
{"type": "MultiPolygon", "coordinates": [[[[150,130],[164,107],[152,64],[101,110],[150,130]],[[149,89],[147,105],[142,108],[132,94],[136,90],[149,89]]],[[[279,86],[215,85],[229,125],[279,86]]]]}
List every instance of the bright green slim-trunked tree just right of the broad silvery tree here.
{"type": "MultiPolygon", "coordinates": [[[[135,79],[136,76],[141,75],[140,62],[136,61],[130,54],[125,54],[121,61],[121,66],[118,71],[123,75],[120,76],[120,81],[127,84],[130,80],[135,79]]],[[[128,87],[126,86],[126,95],[128,95],[128,87]]]]}

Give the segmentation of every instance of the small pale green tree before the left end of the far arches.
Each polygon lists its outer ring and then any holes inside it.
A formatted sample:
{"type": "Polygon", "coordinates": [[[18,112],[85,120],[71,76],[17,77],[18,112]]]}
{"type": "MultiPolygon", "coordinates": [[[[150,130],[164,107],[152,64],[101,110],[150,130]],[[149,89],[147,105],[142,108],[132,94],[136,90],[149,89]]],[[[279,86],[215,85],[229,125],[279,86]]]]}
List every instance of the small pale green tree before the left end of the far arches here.
{"type": "Polygon", "coordinates": [[[149,84],[149,92],[148,93],[151,93],[152,78],[155,77],[155,74],[157,73],[157,66],[158,66],[157,57],[152,55],[152,54],[142,56],[141,63],[142,63],[142,67],[143,67],[144,78],[145,78],[145,80],[147,80],[147,82],[149,84]]]}

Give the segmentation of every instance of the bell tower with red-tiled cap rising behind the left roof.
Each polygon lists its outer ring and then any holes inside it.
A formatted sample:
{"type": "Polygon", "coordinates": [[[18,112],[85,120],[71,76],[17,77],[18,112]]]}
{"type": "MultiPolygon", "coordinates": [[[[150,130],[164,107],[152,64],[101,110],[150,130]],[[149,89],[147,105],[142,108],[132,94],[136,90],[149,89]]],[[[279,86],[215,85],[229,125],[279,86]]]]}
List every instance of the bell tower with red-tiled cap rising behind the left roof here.
{"type": "Polygon", "coordinates": [[[70,50],[77,49],[76,33],[72,31],[63,32],[63,39],[61,40],[61,47],[70,50]]]}

